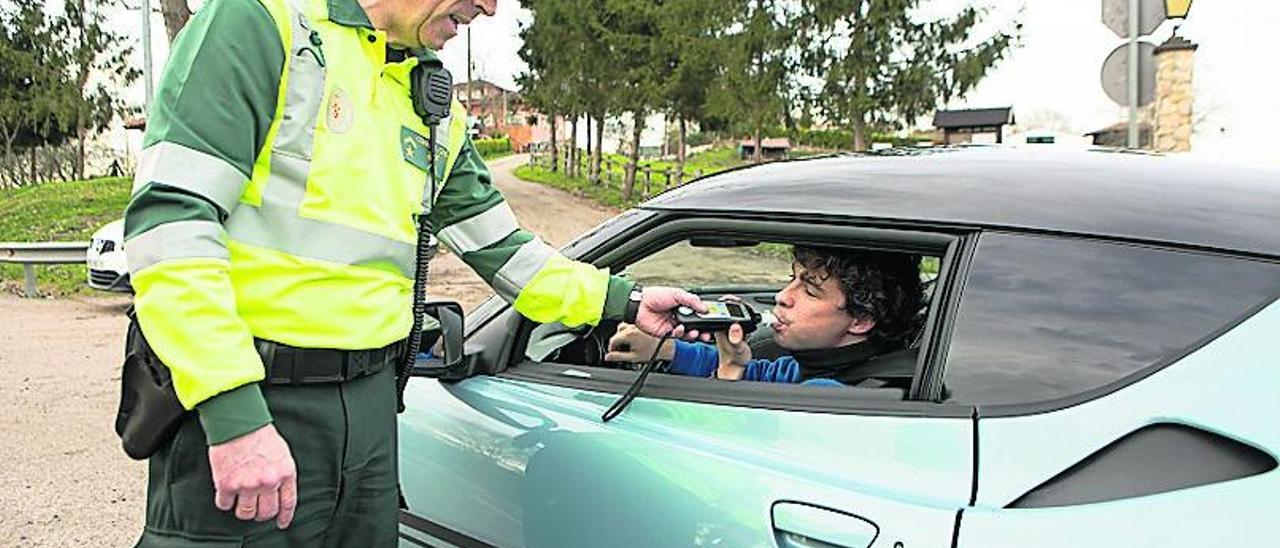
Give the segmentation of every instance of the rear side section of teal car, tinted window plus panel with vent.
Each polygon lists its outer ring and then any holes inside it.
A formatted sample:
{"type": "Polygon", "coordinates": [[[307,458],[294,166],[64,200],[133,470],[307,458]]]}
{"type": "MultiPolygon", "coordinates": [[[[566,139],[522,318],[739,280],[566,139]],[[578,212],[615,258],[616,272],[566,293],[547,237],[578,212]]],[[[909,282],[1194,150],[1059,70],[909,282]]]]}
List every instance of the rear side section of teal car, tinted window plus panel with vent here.
{"type": "Polygon", "coordinates": [[[1280,265],[987,232],[947,398],[978,408],[959,547],[1270,545],[1280,265]]]}

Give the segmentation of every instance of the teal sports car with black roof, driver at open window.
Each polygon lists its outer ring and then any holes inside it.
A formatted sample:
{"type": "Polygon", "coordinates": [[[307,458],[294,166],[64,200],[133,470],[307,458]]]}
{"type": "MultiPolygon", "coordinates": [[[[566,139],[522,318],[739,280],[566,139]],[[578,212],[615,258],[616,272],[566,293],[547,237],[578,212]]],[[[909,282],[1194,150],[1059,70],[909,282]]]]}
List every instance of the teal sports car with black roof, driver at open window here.
{"type": "Polygon", "coordinates": [[[563,251],[769,310],[792,245],[927,257],[922,329],[882,382],[659,370],[603,421],[637,378],[603,360],[617,324],[540,325],[493,298],[465,351],[408,383],[401,545],[1280,539],[1276,172],[998,147],[782,161],[563,251]]]}

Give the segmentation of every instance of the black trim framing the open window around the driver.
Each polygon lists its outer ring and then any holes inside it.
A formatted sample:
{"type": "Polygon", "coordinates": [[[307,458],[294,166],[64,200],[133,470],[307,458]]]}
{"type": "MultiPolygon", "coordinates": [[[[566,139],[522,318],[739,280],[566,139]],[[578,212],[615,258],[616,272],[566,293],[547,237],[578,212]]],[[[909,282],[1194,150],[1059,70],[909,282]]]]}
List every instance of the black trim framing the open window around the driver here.
{"type": "MultiPolygon", "coordinates": [[[[691,233],[714,233],[726,237],[756,238],[769,242],[804,242],[804,243],[832,243],[840,246],[867,245],[877,248],[913,251],[938,255],[941,265],[938,271],[940,283],[943,275],[955,275],[959,269],[951,266],[957,262],[956,254],[972,246],[961,246],[961,241],[973,238],[972,229],[968,228],[942,228],[937,225],[906,227],[893,223],[892,227],[878,227],[865,220],[817,220],[797,219],[781,222],[768,218],[735,216],[723,213],[707,215],[681,215],[666,214],[654,215],[644,223],[625,230],[627,234],[614,238],[620,242],[612,247],[602,247],[582,254],[580,259],[588,260],[596,266],[608,265],[614,271],[635,262],[653,252],[686,238],[691,233]]],[[[963,282],[951,282],[947,286],[963,287],[963,282]]],[[[938,292],[934,289],[931,303],[929,320],[927,321],[927,335],[938,335],[940,329],[929,329],[928,325],[938,324],[937,314],[946,314],[954,306],[942,306],[942,300],[955,298],[954,291],[938,292]]],[[[506,356],[506,365],[500,366],[495,376],[509,378],[541,384],[589,389],[595,392],[621,394],[635,378],[634,371],[612,370],[603,367],[585,367],[567,364],[539,364],[538,367],[529,366],[532,362],[525,360],[524,348],[527,346],[534,323],[521,319],[517,328],[515,343],[509,344],[506,356]],[[525,365],[524,367],[521,365],[525,365]],[[566,375],[567,369],[585,369],[590,378],[566,375]]],[[[928,339],[922,342],[922,348],[932,346],[928,339]]],[[[945,348],[945,346],[943,346],[945,348]]],[[[925,352],[922,352],[922,361],[916,364],[916,374],[920,371],[937,371],[941,367],[925,366],[925,352]]],[[[934,416],[934,417],[973,417],[973,406],[968,403],[943,403],[937,401],[911,401],[911,399],[878,399],[840,397],[840,391],[826,393],[810,387],[788,385],[760,385],[760,383],[721,383],[710,379],[660,379],[662,375],[650,376],[645,384],[643,396],[657,399],[677,399],[699,403],[727,405],[735,407],[773,408],[788,411],[826,412],[826,414],[859,414],[859,415],[901,415],[901,416],[934,416]],[[716,389],[708,389],[708,384],[717,383],[716,389]],[[753,385],[754,384],[754,385],[753,385]],[[764,394],[764,396],[762,396],[764,394]],[[852,399],[852,401],[851,401],[852,399]]],[[[920,378],[916,376],[916,384],[920,378]]],[[[847,396],[847,393],[845,394],[847,396]]],[[[910,392],[909,394],[910,396],[910,392]]]]}

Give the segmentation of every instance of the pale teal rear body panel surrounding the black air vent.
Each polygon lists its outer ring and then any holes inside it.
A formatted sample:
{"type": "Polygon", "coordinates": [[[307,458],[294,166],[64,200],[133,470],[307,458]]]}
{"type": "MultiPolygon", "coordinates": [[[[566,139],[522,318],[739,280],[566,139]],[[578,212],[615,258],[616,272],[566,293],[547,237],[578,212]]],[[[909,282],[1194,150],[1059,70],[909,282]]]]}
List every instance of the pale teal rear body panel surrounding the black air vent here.
{"type": "MultiPolygon", "coordinates": [[[[1181,424],[1280,452],[1280,301],[1140,383],[1047,414],[980,417],[975,508],[960,545],[1262,545],[1274,519],[1280,470],[1106,502],[1006,508],[1091,453],[1151,424],[1181,424]]],[[[1151,462],[1158,466],[1160,460],[1151,462]]]]}

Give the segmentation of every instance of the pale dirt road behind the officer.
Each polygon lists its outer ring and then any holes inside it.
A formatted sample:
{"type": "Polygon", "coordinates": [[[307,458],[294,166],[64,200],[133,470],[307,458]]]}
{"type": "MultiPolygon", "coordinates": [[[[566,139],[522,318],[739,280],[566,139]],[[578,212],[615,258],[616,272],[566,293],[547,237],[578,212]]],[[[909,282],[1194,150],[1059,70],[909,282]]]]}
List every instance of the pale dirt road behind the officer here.
{"type": "MultiPolygon", "coordinates": [[[[524,227],[563,245],[613,211],[492,164],[524,227]]],[[[468,309],[490,291],[462,262],[433,262],[431,293],[468,309]]],[[[146,465],[111,429],[124,339],[122,296],[0,294],[0,547],[127,547],[142,528],[146,465]]]]}

